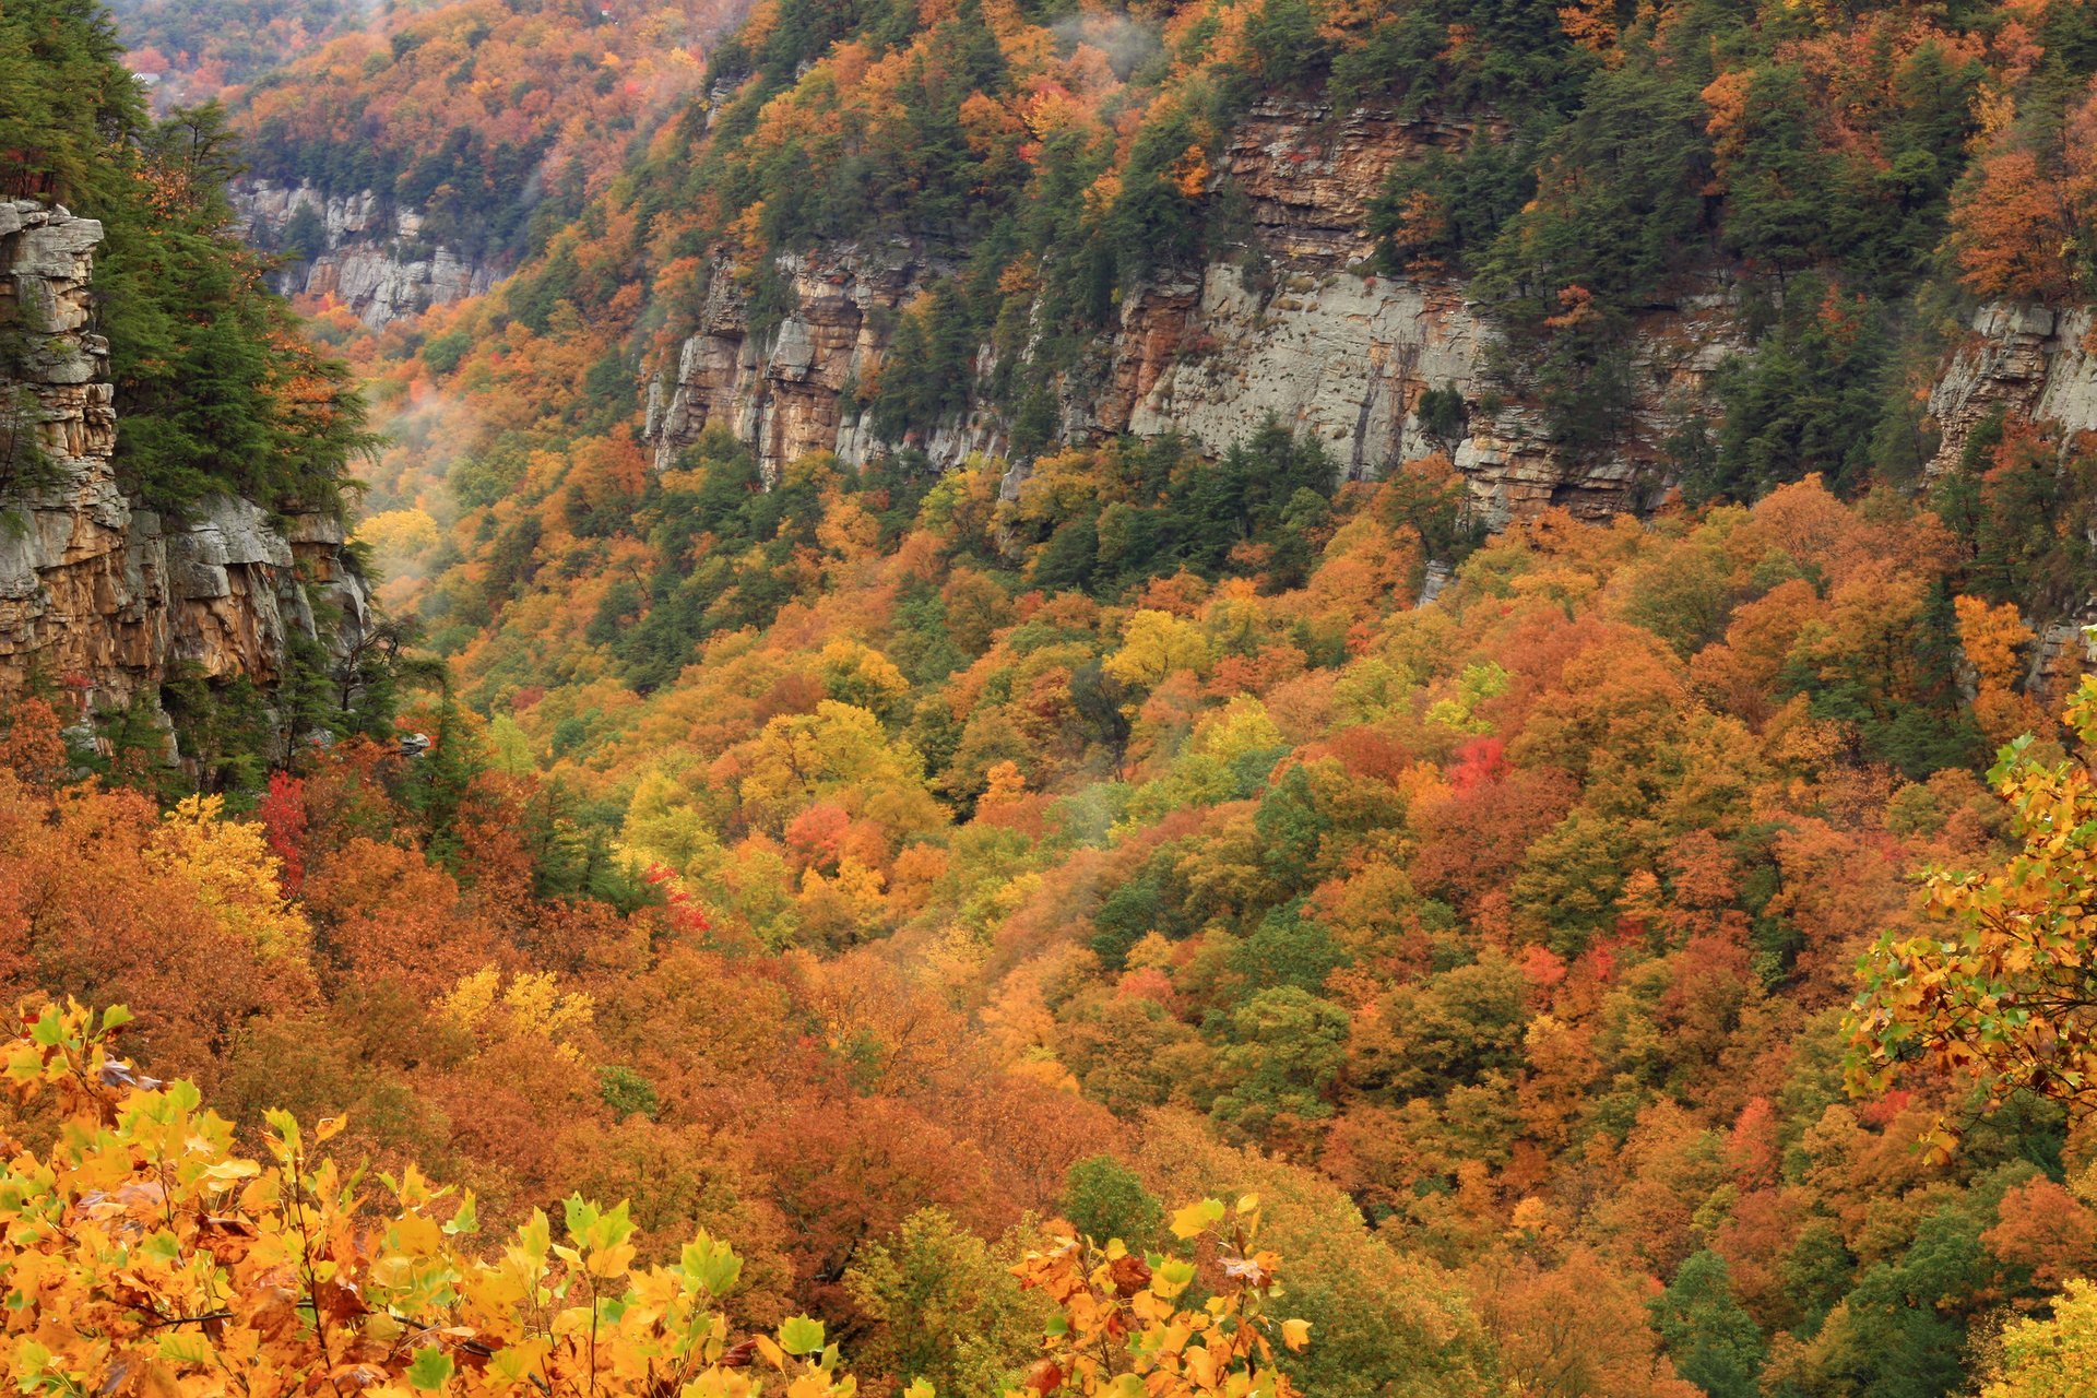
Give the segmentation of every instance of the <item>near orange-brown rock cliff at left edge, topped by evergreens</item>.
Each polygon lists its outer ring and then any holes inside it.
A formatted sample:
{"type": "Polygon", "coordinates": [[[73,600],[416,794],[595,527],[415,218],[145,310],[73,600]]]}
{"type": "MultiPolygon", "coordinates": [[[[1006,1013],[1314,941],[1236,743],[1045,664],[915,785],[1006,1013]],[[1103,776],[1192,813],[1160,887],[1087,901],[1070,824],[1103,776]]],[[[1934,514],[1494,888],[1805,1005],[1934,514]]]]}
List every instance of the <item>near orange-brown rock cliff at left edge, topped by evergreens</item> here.
{"type": "Polygon", "coordinates": [[[369,618],[342,524],[231,497],[170,520],[124,497],[109,346],[90,331],[101,237],[63,207],[0,203],[0,434],[34,446],[0,484],[0,696],[50,683],[90,713],[178,673],[268,685],[294,633],[340,650],[369,618]]]}

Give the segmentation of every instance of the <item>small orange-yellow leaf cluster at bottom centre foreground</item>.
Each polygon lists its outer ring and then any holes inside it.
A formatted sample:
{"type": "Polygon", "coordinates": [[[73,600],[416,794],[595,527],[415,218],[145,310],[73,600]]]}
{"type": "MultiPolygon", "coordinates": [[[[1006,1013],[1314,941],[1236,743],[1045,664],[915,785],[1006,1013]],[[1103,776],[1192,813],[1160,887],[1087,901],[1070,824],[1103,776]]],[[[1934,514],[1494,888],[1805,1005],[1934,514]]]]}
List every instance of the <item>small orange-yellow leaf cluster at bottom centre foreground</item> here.
{"type": "Polygon", "coordinates": [[[1199,1306],[1187,1306],[1204,1268],[1195,1258],[1139,1258],[1120,1239],[1097,1245],[1069,1224],[1048,1226],[1055,1247],[1028,1253],[1013,1268],[1028,1287],[1059,1308],[1042,1341],[1044,1358],[1025,1390],[1007,1398],[1055,1394],[1065,1388],[1114,1398],[1292,1398],[1298,1394],[1275,1367],[1275,1339],[1290,1350],[1311,1341],[1309,1320],[1267,1314],[1281,1297],[1281,1258],[1254,1251],[1260,1201],[1235,1207],[1220,1199],[1189,1203],[1172,1216],[1183,1243],[1208,1241],[1220,1285],[1199,1306]]]}

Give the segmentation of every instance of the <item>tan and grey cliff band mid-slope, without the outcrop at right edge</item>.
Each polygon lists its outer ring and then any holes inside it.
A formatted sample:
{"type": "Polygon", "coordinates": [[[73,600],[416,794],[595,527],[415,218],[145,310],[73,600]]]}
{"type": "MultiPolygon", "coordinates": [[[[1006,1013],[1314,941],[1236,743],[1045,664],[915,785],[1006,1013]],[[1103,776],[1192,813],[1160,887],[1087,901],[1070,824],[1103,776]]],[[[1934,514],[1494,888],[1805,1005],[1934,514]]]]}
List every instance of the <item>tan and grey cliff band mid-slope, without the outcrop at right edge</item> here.
{"type": "MultiPolygon", "coordinates": [[[[1707,375],[1738,348],[1724,287],[1646,314],[1636,407],[1619,446],[1604,459],[1566,459],[1520,384],[1491,381],[1491,329],[1460,281],[1382,277],[1371,266],[1369,203],[1390,166],[1470,134],[1392,111],[1334,119],[1309,105],[1256,107],[1216,170],[1218,189],[1233,184],[1250,205],[1246,247],[1199,277],[1122,302],[1116,331],[1063,384],[1063,436],[1183,432],[1223,451],[1275,413],[1319,436],[1353,478],[1451,451],[1495,524],[1545,505],[1585,516],[1642,505],[1659,484],[1659,444],[1686,413],[1703,411],[1707,375]],[[1422,428],[1418,407],[1430,390],[1464,396],[1455,440],[1422,428]]],[[[782,258],[797,308],[765,333],[751,333],[732,268],[715,270],[698,333],[650,388],[658,463],[709,423],[734,430],[772,474],[814,449],[862,461],[889,446],[872,438],[847,390],[874,379],[883,327],[950,270],[950,254],[885,243],[782,258]]],[[[988,367],[986,350],[979,369],[988,367]]],[[[954,465],[1002,440],[1004,425],[977,415],[916,444],[954,465]]]]}

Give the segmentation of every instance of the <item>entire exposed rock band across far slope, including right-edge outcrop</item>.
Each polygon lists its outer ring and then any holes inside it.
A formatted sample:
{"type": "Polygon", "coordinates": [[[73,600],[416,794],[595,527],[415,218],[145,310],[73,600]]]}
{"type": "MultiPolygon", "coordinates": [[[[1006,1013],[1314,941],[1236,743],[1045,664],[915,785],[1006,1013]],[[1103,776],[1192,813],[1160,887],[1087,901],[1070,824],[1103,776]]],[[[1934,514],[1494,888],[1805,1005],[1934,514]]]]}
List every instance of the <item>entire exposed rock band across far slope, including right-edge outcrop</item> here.
{"type": "MultiPolygon", "coordinates": [[[[1474,124],[1395,109],[1267,101],[1223,143],[1206,187],[1250,210],[1241,243],[1120,300],[1080,373],[1059,386],[1055,440],[1181,434],[1220,455],[1269,415],[1317,440],[1344,480],[1378,480],[1441,453],[1462,472],[1487,528],[1541,509],[1577,518],[1648,514],[1682,482],[1686,434],[1715,432],[1728,361],[1755,352],[1743,310],[1747,268],[1709,264],[1638,308],[1629,411],[1600,449],[1554,440],[1533,384],[1495,356],[1499,327],[1470,281],[1380,266],[1371,205],[1390,172],[1453,151],[1474,124]],[[1424,413],[1443,394],[1439,413],[1424,413]]],[[[881,377],[898,316],[952,277],[965,249],[927,239],[851,239],[780,254],[791,306],[751,329],[747,262],[717,254],[709,296],[646,384],[644,438],[658,469],[709,425],[728,428],[776,480],[805,453],[864,465],[921,449],[952,469],[1007,455],[1011,415],[981,402],[933,428],[883,436],[860,390],[881,377]]],[[[2091,312],[1986,302],[1933,356],[1912,423],[1927,476],[1959,461],[1969,432],[2022,413],[2061,432],[2097,430],[2091,312]]],[[[998,352],[981,344],[973,375],[998,352]]],[[[1021,461],[1015,482],[1025,476],[1021,461]]]]}

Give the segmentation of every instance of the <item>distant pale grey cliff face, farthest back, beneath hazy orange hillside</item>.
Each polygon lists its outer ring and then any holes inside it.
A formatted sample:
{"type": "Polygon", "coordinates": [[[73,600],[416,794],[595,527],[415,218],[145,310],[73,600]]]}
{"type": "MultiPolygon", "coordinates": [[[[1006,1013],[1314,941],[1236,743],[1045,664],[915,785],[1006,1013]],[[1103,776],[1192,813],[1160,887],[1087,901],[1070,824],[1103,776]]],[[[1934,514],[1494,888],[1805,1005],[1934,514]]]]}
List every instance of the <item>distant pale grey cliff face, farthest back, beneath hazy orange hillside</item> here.
{"type": "Polygon", "coordinates": [[[497,268],[451,247],[421,245],[421,214],[388,207],[373,191],[321,195],[312,184],[250,180],[235,189],[241,233],[277,243],[291,218],[310,207],[327,231],[327,247],[277,272],[285,296],[336,296],[371,329],[421,314],[430,306],[480,296],[497,268]]]}

